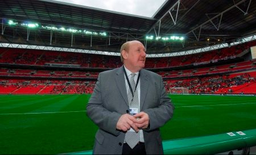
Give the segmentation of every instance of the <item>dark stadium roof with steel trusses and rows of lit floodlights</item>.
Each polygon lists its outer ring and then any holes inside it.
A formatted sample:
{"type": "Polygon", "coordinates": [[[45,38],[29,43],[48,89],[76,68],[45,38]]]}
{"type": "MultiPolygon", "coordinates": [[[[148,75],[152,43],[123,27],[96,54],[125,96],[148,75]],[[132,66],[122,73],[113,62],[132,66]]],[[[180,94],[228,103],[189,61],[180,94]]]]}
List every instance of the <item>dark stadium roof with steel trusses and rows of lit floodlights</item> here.
{"type": "Polygon", "coordinates": [[[171,53],[255,34],[256,1],[169,0],[148,18],[51,0],[9,0],[1,1],[0,18],[1,43],[119,52],[136,39],[148,53],[171,53]],[[33,22],[36,28],[28,27],[33,22]]]}

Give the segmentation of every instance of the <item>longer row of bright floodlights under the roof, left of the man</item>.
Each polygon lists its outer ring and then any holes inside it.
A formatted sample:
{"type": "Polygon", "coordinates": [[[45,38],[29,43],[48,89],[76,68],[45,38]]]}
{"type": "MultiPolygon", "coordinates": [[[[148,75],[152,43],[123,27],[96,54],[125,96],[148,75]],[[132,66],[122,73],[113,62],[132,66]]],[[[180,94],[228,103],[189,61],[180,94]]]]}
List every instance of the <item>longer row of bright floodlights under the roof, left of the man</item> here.
{"type": "Polygon", "coordinates": [[[9,26],[21,26],[21,27],[28,27],[28,28],[42,28],[44,30],[50,31],[60,31],[60,32],[69,32],[69,33],[81,33],[85,35],[94,35],[94,36],[107,36],[106,32],[96,32],[96,31],[89,31],[84,30],[81,28],[71,28],[71,27],[64,27],[64,26],[49,26],[46,24],[40,23],[33,23],[33,22],[17,22],[16,20],[8,20],[7,24],[9,26]]]}

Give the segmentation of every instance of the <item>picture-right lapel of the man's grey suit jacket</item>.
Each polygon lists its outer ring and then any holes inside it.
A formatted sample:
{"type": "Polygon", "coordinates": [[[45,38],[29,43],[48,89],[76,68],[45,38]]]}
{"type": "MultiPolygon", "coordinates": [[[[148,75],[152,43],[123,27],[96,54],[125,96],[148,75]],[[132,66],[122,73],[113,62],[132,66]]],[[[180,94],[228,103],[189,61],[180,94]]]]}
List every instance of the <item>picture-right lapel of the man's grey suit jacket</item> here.
{"type": "Polygon", "coordinates": [[[148,91],[148,76],[146,74],[146,72],[144,72],[144,70],[142,69],[141,70],[141,110],[142,110],[142,107],[143,107],[143,104],[145,102],[145,98],[146,98],[146,95],[147,95],[147,91],[148,91]]]}

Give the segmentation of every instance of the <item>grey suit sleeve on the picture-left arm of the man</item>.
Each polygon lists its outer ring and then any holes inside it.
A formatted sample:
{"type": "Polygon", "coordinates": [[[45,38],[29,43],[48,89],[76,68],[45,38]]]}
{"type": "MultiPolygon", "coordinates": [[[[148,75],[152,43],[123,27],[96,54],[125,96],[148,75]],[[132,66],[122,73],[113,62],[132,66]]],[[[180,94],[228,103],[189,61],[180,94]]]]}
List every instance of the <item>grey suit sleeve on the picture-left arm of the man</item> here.
{"type": "Polygon", "coordinates": [[[120,131],[116,129],[117,122],[121,117],[121,114],[117,112],[111,112],[103,106],[102,98],[102,79],[101,73],[98,76],[98,81],[93,90],[93,94],[89,99],[86,106],[86,113],[90,119],[102,130],[112,133],[113,135],[119,135],[120,131]]]}

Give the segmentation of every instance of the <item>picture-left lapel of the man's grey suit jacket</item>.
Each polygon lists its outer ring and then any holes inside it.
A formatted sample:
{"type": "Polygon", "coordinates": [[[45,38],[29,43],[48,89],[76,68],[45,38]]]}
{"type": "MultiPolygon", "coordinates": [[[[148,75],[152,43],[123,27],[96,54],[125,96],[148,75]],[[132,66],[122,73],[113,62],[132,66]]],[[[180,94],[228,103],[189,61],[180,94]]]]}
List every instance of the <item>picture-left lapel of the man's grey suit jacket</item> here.
{"type": "Polygon", "coordinates": [[[122,94],[123,100],[125,100],[125,103],[127,104],[127,106],[129,106],[124,74],[125,73],[123,72],[123,66],[121,68],[118,68],[117,74],[115,75],[115,82],[117,82],[117,87],[122,94]]]}

